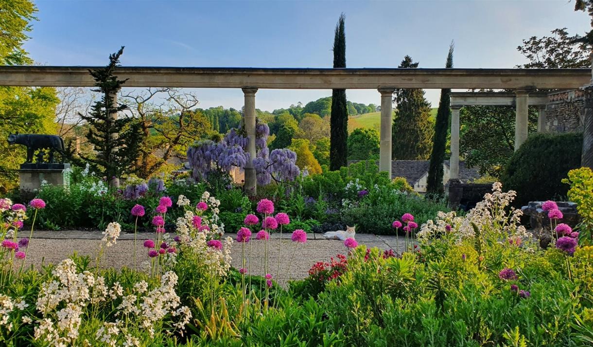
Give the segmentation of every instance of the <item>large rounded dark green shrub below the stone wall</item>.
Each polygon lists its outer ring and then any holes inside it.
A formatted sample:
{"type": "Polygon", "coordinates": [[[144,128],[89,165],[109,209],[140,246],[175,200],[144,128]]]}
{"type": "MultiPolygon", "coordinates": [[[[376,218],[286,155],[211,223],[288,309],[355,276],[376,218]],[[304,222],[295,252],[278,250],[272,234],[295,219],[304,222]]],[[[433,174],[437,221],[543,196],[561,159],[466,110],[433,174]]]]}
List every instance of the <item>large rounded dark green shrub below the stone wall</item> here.
{"type": "Polygon", "coordinates": [[[562,179],[581,166],[582,143],[581,133],[531,135],[500,177],[506,190],[517,191],[514,206],[564,198],[569,187],[562,179]]]}

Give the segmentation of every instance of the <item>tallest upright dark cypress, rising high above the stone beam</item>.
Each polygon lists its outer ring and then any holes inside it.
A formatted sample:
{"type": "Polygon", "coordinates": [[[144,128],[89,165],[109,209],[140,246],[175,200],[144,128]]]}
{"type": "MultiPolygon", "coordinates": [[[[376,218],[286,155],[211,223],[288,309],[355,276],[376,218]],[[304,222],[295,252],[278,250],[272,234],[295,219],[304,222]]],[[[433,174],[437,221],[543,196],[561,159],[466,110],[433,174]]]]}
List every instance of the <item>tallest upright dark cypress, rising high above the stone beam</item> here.
{"type": "MultiPolygon", "coordinates": [[[[336,24],[333,46],[334,68],[346,67],[345,19],[346,16],[341,14],[336,24]]],[[[348,109],[345,89],[331,91],[330,126],[330,169],[337,170],[347,165],[348,109]]]]}

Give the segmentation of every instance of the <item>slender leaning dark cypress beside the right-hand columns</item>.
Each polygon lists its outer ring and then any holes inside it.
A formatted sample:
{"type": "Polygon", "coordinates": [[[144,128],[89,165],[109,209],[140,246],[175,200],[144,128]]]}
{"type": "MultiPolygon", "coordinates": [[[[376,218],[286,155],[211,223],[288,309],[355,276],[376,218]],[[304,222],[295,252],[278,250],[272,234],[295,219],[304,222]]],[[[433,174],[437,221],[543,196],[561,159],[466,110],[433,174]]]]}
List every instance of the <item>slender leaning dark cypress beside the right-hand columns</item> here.
{"type": "MultiPolygon", "coordinates": [[[[453,67],[453,42],[449,45],[449,54],[445,68],[453,67]]],[[[435,137],[432,141],[431,163],[428,167],[428,183],[426,193],[442,196],[443,189],[443,162],[445,161],[445,146],[447,145],[447,130],[449,129],[449,116],[451,115],[451,89],[441,89],[441,100],[436,112],[435,137]]]]}

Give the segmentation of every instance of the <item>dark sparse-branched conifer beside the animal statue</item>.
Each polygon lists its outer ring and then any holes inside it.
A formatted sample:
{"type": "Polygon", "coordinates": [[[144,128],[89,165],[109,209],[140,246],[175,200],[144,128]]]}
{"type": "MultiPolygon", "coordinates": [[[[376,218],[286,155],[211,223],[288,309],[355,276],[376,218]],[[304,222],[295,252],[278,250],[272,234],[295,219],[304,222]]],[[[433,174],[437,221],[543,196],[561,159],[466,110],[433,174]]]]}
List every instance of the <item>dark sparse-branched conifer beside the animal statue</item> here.
{"type": "Polygon", "coordinates": [[[90,163],[94,171],[106,176],[112,187],[119,185],[117,178],[120,175],[133,168],[142,141],[139,122],[134,118],[117,116],[118,112],[127,109],[126,105],[114,102],[114,96],[126,82],[113,75],[122,53],[123,46],[117,53],[109,55],[107,67],[90,70],[97,86],[93,92],[101,93],[101,99],[94,103],[90,113],[80,114],[89,125],[86,137],[96,152],[94,157],[81,157],[90,163]]]}

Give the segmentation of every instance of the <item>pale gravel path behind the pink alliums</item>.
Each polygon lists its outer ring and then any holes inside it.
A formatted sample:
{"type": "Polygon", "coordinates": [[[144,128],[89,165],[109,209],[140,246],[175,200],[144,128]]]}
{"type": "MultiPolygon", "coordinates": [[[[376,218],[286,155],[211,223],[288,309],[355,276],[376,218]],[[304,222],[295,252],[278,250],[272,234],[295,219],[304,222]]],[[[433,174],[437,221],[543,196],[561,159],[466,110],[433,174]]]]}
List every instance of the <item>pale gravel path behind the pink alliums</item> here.
{"type": "MultiPolygon", "coordinates": [[[[225,234],[231,237],[235,235],[225,234]]],[[[36,231],[34,238],[29,245],[25,266],[33,265],[36,269],[40,265],[47,263],[59,263],[64,258],[69,257],[76,252],[79,255],[89,255],[95,258],[98,254],[98,246],[101,232],[89,231],[36,231]]],[[[141,270],[149,269],[146,251],[142,247],[144,239],[152,234],[138,234],[138,267],[141,270]]],[[[302,279],[307,276],[308,270],[317,261],[329,261],[339,253],[346,253],[346,247],[342,241],[323,239],[319,234],[310,234],[305,244],[299,244],[295,253],[295,244],[289,239],[290,235],[282,235],[279,239],[278,234],[272,234],[270,238],[270,273],[276,279],[278,269],[278,248],[282,244],[280,256],[280,274],[285,275],[289,272],[289,279],[302,279]],[[292,255],[294,258],[292,258],[292,255]]],[[[378,236],[371,234],[358,234],[356,239],[359,244],[365,244],[367,247],[378,247],[381,249],[392,248],[396,250],[396,236],[378,236]]],[[[133,261],[133,234],[122,234],[117,244],[106,248],[101,258],[101,267],[113,267],[119,269],[126,266],[132,268],[133,261]]],[[[263,241],[253,241],[246,245],[247,256],[251,252],[251,273],[254,275],[263,274],[263,241]],[[250,245],[251,244],[251,245],[250,245]],[[251,250],[250,250],[251,247],[251,250]]],[[[400,251],[403,250],[404,238],[400,236],[400,251]]],[[[241,244],[235,243],[232,248],[232,266],[237,269],[241,267],[241,244]]],[[[247,260],[248,261],[248,260],[247,260]]]]}

